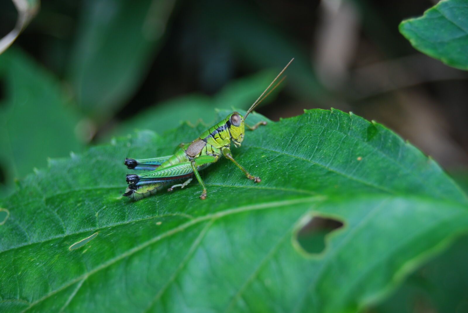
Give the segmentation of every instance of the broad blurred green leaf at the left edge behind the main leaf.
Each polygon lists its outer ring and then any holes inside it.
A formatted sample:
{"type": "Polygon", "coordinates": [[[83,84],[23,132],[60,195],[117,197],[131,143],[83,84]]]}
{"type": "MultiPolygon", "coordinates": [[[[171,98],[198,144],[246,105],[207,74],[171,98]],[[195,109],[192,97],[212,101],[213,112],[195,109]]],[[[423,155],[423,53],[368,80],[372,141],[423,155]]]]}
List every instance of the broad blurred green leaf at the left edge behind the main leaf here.
{"type": "Polygon", "coordinates": [[[79,116],[54,77],[18,49],[0,55],[0,167],[7,184],[44,167],[82,144],[75,135],[79,116]]]}

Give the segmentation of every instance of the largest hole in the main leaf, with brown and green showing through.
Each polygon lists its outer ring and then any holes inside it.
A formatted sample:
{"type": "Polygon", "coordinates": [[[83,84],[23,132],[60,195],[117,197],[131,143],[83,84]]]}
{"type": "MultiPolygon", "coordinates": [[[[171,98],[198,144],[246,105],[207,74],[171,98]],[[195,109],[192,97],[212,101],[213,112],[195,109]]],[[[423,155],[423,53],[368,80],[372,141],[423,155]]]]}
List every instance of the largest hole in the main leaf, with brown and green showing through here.
{"type": "Polygon", "coordinates": [[[314,216],[297,232],[297,242],[307,253],[316,255],[325,250],[325,236],[344,224],[333,218],[314,216]]]}

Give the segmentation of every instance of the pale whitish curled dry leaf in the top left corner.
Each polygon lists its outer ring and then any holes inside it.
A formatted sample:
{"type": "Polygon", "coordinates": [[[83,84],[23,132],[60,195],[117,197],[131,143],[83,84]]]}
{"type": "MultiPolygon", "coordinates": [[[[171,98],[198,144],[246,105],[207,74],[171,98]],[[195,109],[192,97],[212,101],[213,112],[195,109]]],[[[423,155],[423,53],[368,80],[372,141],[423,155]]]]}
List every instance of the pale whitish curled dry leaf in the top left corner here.
{"type": "Polygon", "coordinates": [[[15,28],[0,39],[0,54],[13,44],[39,10],[39,0],[12,0],[12,2],[18,11],[18,20],[15,28]]]}

